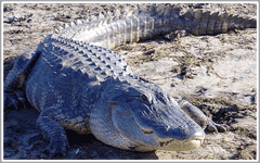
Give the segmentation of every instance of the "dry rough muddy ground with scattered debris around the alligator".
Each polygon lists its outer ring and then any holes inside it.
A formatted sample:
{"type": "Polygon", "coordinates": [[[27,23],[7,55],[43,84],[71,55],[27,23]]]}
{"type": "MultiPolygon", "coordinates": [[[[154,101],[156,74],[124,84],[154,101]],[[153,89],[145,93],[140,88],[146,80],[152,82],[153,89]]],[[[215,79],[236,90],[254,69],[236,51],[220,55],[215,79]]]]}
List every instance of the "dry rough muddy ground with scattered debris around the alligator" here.
{"type": "MultiPolygon", "coordinates": [[[[135,5],[135,4],[128,4],[135,5]]],[[[255,17],[256,4],[176,4],[255,17]]],[[[120,4],[3,4],[4,76],[15,58],[64,23],[88,18],[120,4]]],[[[183,34],[180,32],[180,34],[183,34]]],[[[63,159],[256,159],[257,155],[257,30],[232,30],[217,36],[171,35],[114,49],[133,72],[160,85],[173,97],[199,106],[227,131],[208,134],[199,149],[174,152],[129,152],[106,146],[92,135],[67,130],[70,148],[63,159]]],[[[4,110],[4,152],[10,159],[47,159],[48,146],[30,105],[4,110]]]]}

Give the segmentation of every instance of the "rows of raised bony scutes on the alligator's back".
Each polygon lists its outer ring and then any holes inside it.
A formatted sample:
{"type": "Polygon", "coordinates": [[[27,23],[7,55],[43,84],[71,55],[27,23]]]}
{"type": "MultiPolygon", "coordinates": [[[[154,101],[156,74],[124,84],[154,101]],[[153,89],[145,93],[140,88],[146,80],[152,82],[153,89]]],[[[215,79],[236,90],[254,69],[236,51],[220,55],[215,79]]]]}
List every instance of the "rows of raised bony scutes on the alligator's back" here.
{"type": "Polygon", "coordinates": [[[116,52],[106,48],[62,38],[56,34],[49,36],[42,42],[42,48],[44,48],[44,45],[51,51],[51,53],[44,53],[47,55],[44,61],[48,65],[53,65],[53,68],[56,67],[55,64],[62,64],[63,68],[60,67],[60,70],[68,67],[75,71],[79,70],[99,82],[104,80],[107,76],[127,76],[132,74],[128,64],[116,52]],[[55,61],[60,63],[55,63],[55,61]]]}

